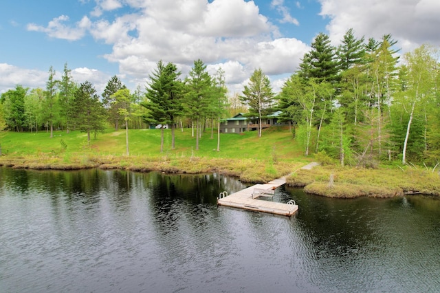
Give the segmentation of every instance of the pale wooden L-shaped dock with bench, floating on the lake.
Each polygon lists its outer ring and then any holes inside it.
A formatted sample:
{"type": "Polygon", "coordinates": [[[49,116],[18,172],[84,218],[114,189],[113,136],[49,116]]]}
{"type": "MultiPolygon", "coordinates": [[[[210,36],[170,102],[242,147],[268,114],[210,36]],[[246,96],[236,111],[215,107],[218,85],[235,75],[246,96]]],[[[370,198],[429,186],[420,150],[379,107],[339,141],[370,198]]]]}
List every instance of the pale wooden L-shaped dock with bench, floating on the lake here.
{"type": "Polygon", "coordinates": [[[217,204],[219,206],[231,206],[233,208],[291,216],[298,210],[298,206],[294,201],[283,204],[281,202],[270,202],[258,199],[258,197],[262,196],[273,196],[275,189],[285,183],[285,177],[281,177],[265,184],[255,184],[254,186],[232,193],[231,195],[220,193],[217,204]]]}

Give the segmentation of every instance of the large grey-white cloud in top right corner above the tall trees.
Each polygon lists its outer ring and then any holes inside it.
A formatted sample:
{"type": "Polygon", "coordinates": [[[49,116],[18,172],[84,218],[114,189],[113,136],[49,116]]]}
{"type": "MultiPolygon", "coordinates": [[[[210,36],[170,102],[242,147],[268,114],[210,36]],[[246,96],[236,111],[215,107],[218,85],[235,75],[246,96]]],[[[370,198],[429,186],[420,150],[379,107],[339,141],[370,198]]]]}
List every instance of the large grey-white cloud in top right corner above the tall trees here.
{"type": "Polygon", "coordinates": [[[403,52],[423,43],[440,45],[440,1],[437,0],[320,0],[320,14],[329,17],[329,35],[340,41],[349,28],[358,36],[380,39],[392,34],[403,52]]]}

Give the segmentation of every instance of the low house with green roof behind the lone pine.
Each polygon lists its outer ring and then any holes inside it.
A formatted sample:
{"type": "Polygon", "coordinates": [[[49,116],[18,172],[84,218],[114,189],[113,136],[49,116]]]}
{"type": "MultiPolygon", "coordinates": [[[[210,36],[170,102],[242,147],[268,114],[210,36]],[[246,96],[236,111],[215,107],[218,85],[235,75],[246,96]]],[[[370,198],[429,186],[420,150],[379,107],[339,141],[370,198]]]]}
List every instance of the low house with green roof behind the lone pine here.
{"type": "MultiPolygon", "coordinates": [[[[261,127],[264,129],[272,126],[284,125],[284,123],[278,122],[278,116],[280,113],[281,111],[276,111],[275,113],[261,119],[261,127]]],[[[245,131],[257,129],[259,129],[258,118],[245,117],[243,113],[238,113],[236,116],[226,118],[220,122],[221,133],[243,133],[245,131]]]]}

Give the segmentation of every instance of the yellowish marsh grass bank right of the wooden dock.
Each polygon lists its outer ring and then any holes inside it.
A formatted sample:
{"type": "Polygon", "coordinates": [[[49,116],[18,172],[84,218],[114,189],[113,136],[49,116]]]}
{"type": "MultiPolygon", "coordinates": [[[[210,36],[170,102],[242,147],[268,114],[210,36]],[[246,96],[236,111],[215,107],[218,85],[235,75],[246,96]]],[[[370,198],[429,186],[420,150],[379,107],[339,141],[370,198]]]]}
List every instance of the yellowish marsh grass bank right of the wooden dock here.
{"type": "Polygon", "coordinates": [[[380,169],[317,166],[287,177],[289,186],[301,186],[307,193],[326,197],[395,197],[404,194],[440,196],[440,178],[432,170],[406,166],[380,169]]]}

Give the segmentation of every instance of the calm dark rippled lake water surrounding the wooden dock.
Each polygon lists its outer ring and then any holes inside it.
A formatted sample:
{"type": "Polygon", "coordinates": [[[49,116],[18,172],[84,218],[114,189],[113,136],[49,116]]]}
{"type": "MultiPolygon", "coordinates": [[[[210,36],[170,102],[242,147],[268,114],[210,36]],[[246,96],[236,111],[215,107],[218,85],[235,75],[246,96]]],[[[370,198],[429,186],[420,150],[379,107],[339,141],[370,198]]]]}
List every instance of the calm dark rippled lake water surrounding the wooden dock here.
{"type": "Polygon", "coordinates": [[[0,292],[440,292],[440,200],[282,186],[290,218],[217,207],[243,187],[0,168],[0,292]]]}

